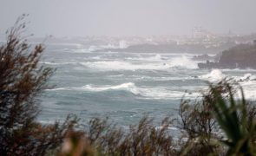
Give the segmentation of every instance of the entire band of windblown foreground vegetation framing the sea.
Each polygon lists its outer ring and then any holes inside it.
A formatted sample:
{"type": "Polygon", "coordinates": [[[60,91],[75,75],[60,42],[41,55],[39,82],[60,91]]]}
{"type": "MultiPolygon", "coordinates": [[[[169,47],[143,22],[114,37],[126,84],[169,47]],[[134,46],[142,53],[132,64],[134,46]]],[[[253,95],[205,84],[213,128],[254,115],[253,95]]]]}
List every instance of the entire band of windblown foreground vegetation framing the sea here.
{"type": "Polygon", "coordinates": [[[0,47],[0,155],[256,155],[256,107],[228,80],[211,84],[198,101],[182,100],[178,117],[163,119],[161,127],[148,117],[128,130],[98,118],[88,130],[75,128],[72,117],[38,123],[37,97],[53,69],[38,63],[43,45],[32,48],[21,38],[23,17],[0,47]]]}

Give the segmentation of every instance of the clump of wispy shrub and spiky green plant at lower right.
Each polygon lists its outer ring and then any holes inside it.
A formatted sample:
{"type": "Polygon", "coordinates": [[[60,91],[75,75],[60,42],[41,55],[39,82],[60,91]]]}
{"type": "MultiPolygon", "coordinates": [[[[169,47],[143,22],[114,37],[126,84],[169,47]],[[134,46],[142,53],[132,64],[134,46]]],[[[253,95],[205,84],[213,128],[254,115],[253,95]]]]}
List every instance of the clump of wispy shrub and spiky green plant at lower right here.
{"type": "Polygon", "coordinates": [[[210,84],[199,101],[181,101],[179,116],[181,155],[255,154],[256,106],[235,81],[210,84]]]}

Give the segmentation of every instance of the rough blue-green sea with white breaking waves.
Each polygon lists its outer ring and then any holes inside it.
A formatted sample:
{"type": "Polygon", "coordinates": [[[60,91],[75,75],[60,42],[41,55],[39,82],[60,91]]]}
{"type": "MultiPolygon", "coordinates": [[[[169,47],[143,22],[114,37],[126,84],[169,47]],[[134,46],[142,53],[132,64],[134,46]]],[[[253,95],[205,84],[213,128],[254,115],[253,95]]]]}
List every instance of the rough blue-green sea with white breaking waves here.
{"type": "Polygon", "coordinates": [[[256,70],[199,69],[187,53],[93,52],[75,45],[48,45],[42,64],[56,68],[40,97],[41,122],[76,114],[86,123],[108,117],[127,127],[148,115],[155,120],[178,114],[181,98],[200,98],[207,82],[229,76],[244,80],[246,98],[255,99],[256,70]]]}

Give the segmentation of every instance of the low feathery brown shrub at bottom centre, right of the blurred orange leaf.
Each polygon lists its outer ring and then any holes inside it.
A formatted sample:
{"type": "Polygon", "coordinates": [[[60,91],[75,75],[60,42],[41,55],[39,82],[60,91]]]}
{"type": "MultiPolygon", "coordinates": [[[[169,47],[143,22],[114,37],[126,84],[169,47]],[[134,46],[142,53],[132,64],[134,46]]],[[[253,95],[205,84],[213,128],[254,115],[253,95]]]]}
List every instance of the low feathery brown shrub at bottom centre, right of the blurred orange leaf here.
{"type": "Polygon", "coordinates": [[[173,138],[168,132],[172,120],[162,120],[154,127],[153,120],[144,117],[137,126],[125,132],[107,120],[90,121],[88,138],[102,153],[110,155],[174,155],[173,138]]]}

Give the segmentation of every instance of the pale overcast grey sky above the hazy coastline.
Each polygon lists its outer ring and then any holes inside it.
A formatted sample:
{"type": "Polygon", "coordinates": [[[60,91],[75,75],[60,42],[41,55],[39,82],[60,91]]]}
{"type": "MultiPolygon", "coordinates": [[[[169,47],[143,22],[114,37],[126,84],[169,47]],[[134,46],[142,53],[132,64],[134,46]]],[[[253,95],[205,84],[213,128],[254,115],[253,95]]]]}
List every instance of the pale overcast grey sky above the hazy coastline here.
{"type": "Polygon", "coordinates": [[[255,0],[0,0],[0,34],[28,13],[35,36],[256,32],[255,0]]]}

